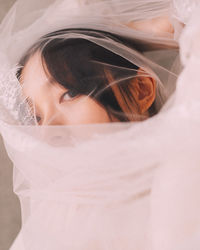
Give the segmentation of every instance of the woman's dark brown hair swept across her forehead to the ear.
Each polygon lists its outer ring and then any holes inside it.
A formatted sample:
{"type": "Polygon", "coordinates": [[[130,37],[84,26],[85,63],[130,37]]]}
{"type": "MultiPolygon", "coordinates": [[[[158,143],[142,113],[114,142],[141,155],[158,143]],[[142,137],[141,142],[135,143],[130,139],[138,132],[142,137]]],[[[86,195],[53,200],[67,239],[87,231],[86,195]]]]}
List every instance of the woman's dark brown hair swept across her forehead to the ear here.
{"type": "MultiPolygon", "coordinates": [[[[89,34],[98,38],[106,36],[119,42],[117,37],[102,31],[64,29],[49,33],[35,43],[22,57],[19,62],[18,78],[29,58],[39,52],[47,75],[71,91],[71,95],[90,95],[105,108],[110,118],[114,116],[119,121],[130,121],[129,117],[133,111],[127,103],[130,113],[123,112],[110,86],[111,83],[108,81],[106,72],[109,72],[116,80],[115,84],[124,101],[128,98],[137,106],[133,95],[130,94],[130,79],[127,79],[127,74],[130,76],[131,72],[131,76],[134,77],[138,67],[86,38],[64,38],[64,35],[72,32],[89,34]]],[[[149,114],[151,116],[155,113],[157,111],[153,103],[149,114]]]]}

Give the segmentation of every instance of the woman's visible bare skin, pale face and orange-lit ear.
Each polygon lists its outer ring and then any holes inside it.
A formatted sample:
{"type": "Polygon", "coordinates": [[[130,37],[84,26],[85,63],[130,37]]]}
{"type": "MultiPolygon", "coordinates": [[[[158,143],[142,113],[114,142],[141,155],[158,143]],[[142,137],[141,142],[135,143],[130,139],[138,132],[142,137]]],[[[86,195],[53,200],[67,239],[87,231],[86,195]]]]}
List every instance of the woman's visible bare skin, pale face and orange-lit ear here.
{"type": "MultiPolygon", "coordinates": [[[[108,77],[108,80],[111,78],[108,77]]],[[[94,99],[77,95],[60,84],[49,79],[39,53],[34,54],[21,74],[23,94],[27,98],[39,125],[78,125],[90,123],[108,123],[118,121],[110,117],[105,108],[94,99]]],[[[150,77],[135,77],[130,83],[137,102],[133,112],[146,115],[155,99],[155,81],[150,77]]],[[[119,104],[126,112],[125,102],[114,89],[119,104]]],[[[148,116],[148,115],[147,115],[148,116]]]]}

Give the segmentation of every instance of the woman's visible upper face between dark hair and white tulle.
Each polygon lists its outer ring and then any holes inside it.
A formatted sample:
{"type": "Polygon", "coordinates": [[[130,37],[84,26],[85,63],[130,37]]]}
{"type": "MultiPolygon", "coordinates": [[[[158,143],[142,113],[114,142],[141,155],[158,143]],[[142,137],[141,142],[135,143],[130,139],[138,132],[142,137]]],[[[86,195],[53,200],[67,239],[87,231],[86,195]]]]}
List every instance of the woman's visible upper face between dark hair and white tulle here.
{"type": "Polygon", "coordinates": [[[48,79],[39,53],[26,63],[21,81],[23,94],[32,106],[39,125],[111,122],[104,107],[95,100],[77,95],[48,79]]]}

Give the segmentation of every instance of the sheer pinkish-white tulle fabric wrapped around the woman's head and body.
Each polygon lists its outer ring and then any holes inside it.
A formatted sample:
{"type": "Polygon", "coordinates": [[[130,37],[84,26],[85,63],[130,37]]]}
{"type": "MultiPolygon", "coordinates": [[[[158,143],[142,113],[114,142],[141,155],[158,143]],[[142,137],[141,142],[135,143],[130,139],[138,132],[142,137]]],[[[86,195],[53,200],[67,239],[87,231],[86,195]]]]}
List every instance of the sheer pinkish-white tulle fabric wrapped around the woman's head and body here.
{"type": "MultiPolygon", "coordinates": [[[[146,65],[169,97],[158,115],[143,122],[76,126],[34,126],[20,93],[22,102],[16,96],[2,99],[1,133],[15,166],[14,191],[22,209],[22,229],[12,250],[199,248],[198,11],[180,40],[184,69],[172,94],[180,70],[177,42],[124,25],[142,20],[144,13],[147,19],[172,16],[172,3],[134,4],[137,8],[129,8],[130,1],[18,1],[2,23],[1,65],[8,76],[41,35],[66,25],[98,28],[151,48],[141,57],[106,39],[95,41],[146,65]]],[[[17,79],[2,79],[3,86],[17,86],[17,79]]]]}

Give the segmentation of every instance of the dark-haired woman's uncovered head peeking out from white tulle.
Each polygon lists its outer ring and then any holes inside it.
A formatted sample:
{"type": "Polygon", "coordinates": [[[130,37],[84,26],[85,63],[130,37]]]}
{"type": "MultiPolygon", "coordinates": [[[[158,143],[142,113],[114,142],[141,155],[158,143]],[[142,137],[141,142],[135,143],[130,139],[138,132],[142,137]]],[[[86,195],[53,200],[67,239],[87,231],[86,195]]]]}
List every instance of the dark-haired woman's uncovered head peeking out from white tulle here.
{"type": "Polygon", "coordinates": [[[126,122],[156,114],[166,101],[166,86],[145,63],[141,47],[101,30],[63,29],[43,36],[21,58],[17,73],[37,123],[126,122]],[[98,44],[101,40],[144,63],[134,64],[98,44]]]}

